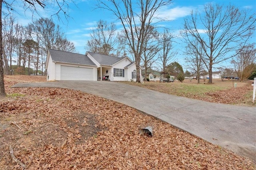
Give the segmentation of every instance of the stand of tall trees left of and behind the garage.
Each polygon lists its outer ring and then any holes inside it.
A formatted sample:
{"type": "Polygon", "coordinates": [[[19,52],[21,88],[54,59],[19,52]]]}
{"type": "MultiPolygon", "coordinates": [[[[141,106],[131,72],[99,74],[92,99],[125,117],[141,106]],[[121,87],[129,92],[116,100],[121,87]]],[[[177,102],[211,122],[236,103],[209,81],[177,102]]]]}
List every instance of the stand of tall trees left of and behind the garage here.
{"type": "Polygon", "coordinates": [[[8,15],[2,22],[5,74],[44,75],[48,49],[74,52],[60,26],[50,18],[40,18],[22,26],[8,15]],[[32,72],[33,71],[33,72],[32,72]]]}

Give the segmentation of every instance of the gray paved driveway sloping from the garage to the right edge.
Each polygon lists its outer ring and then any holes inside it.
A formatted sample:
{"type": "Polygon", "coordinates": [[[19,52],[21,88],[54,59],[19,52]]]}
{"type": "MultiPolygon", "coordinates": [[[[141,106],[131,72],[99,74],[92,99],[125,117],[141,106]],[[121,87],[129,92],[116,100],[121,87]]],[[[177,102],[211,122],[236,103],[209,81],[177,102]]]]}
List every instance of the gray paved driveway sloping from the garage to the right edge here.
{"type": "Polygon", "coordinates": [[[124,103],[256,162],[256,107],[208,103],[110,81],[18,83],[61,87],[124,103]]]}

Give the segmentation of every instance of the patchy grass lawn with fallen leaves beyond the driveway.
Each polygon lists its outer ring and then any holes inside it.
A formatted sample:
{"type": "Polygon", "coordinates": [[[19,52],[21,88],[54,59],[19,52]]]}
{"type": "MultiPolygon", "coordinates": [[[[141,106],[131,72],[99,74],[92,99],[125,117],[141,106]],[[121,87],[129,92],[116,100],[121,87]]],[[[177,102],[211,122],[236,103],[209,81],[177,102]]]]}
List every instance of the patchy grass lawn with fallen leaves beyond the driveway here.
{"type": "Polygon", "coordinates": [[[129,85],[136,85],[146,89],[187,97],[190,99],[198,99],[213,103],[223,103],[232,105],[256,106],[252,103],[253,87],[252,81],[240,82],[237,80],[214,79],[213,84],[208,84],[201,80],[185,79],[183,83],[174,81],[174,83],[145,82],[144,84],[136,82],[122,82],[129,85]],[[236,83],[236,84],[235,84],[236,83]],[[233,87],[234,85],[234,87],[233,87]],[[236,86],[236,87],[235,87],[236,86]]]}

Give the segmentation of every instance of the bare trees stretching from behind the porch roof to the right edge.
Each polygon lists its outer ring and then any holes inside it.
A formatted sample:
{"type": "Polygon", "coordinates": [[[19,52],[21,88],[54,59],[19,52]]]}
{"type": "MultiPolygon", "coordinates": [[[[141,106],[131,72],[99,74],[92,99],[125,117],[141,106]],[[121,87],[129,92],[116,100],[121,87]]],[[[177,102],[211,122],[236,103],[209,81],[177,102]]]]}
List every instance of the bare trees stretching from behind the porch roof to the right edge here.
{"type": "MultiPolygon", "coordinates": [[[[162,6],[168,6],[172,0],[148,0],[131,2],[129,0],[98,0],[98,8],[107,9],[123,26],[123,32],[118,34],[118,41],[122,44],[123,54],[130,53],[136,61],[137,81],[139,78],[140,65],[147,72],[147,68],[155,63],[160,66],[163,73],[171,73],[170,68],[176,63],[177,51],[174,51],[174,36],[172,31],[158,26],[164,18],[158,18],[156,11],[162,6]],[[122,10],[120,10],[122,9],[122,10]],[[138,10],[140,9],[140,10],[138,10]],[[157,20],[157,22],[156,22],[157,20]],[[171,63],[172,62],[172,63],[171,63]]],[[[209,3],[204,5],[203,10],[192,10],[190,15],[184,19],[184,27],[180,31],[183,43],[186,47],[183,51],[184,59],[196,77],[200,77],[208,72],[209,82],[212,83],[212,70],[218,69],[224,61],[232,60],[234,69],[241,77],[242,81],[250,76],[251,70],[255,69],[255,54],[245,52],[248,47],[255,50],[255,44],[250,40],[254,36],[256,18],[255,13],[250,13],[248,9],[241,10],[231,4],[224,6],[221,4],[209,3]],[[246,55],[245,55],[246,54],[246,55]],[[250,56],[249,56],[250,54],[250,56]],[[254,54],[254,55],[253,55],[254,54]],[[241,58],[241,56],[244,56],[241,58]],[[251,56],[252,55],[252,56],[251,56]],[[248,62],[239,61],[248,58],[248,62]],[[244,66],[239,66],[243,63],[244,66]],[[218,65],[218,67],[214,67],[218,65]],[[251,67],[248,69],[248,67],[251,67]],[[246,69],[245,69],[246,68],[246,69]],[[248,73],[242,73],[243,71],[248,73]]],[[[98,22],[97,29],[92,31],[91,38],[87,43],[88,49],[100,53],[111,55],[110,51],[115,51],[115,26],[106,22],[98,22]],[[104,29],[104,28],[111,28],[104,29]],[[108,33],[108,34],[107,34],[108,33]],[[106,39],[106,37],[110,39],[106,39]],[[104,41],[101,41],[104,40],[104,41]],[[94,42],[94,43],[91,43],[94,42]],[[111,42],[111,43],[108,43],[111,42]]],[[[184,76],[184,71],[180,71],[180,76],[184,76]]],[[[200,79],[198,79],[199,83],[200,79]]]]}

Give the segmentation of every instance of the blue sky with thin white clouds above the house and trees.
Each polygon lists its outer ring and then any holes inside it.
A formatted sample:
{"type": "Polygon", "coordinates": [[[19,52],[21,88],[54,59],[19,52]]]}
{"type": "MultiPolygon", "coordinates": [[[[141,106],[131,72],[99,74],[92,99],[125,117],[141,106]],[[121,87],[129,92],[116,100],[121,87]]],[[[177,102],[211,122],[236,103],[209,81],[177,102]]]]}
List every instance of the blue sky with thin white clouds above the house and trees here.
{"type": "MultiPolygon", "coordinates": [[[[90,40],[90,30],[95,28],[96,22],[99,20],[104,20],[108,23],[114,22],[117,29],[122,29],[121,24],[119,24],[119,21],[116,20],[110,11],[96,9],[96,0],[73,0],[73,2],[70,2],[67,12],[71,18],[67,21],[61,15],[62,20],[57,20],[55,17],[54,22],[61,26],[68,40],[75,44],[78,53],[84,54],[86,52],[85,45],[90,40]]],[[[170,28],[170,32],[178,35],[179,30],[183,27],[184,18],[190,14],[190,11],[200,10],[204,4],[209,2],[223,4],[224,6],[232,4],[240,9],[256,11],[256,0],[173,0],[172,5],[162,8],[159,12],[161,16],[165,16],[170,20],[162,24],[170,28]]],[[[20,10],[22,11],[22,9],[20,10]]],[[[39,11],[39,13],[42,17],[49,17],[50,14],[54,13],[54,8],[48,8],[45,11],[39,11]]],[[[26,15],[24,15],[24,12],[20,12],[16,17],[20,24],[26,25],[31,22],[31,16],[32,14],[27,11],[26,15]]],[[[37,17],[34,15],[34,19],[37,17]]],[[[255,37],[252,41],[256,42],[255,37]]],[[[179,42],[178,39],[177,42],[179,42]]],[[[176,44],[177,49],[181,46],[181,44],[176,44]]],[[[184,62],[181,53],[178,54],[176,61],[184,62]]]]}

